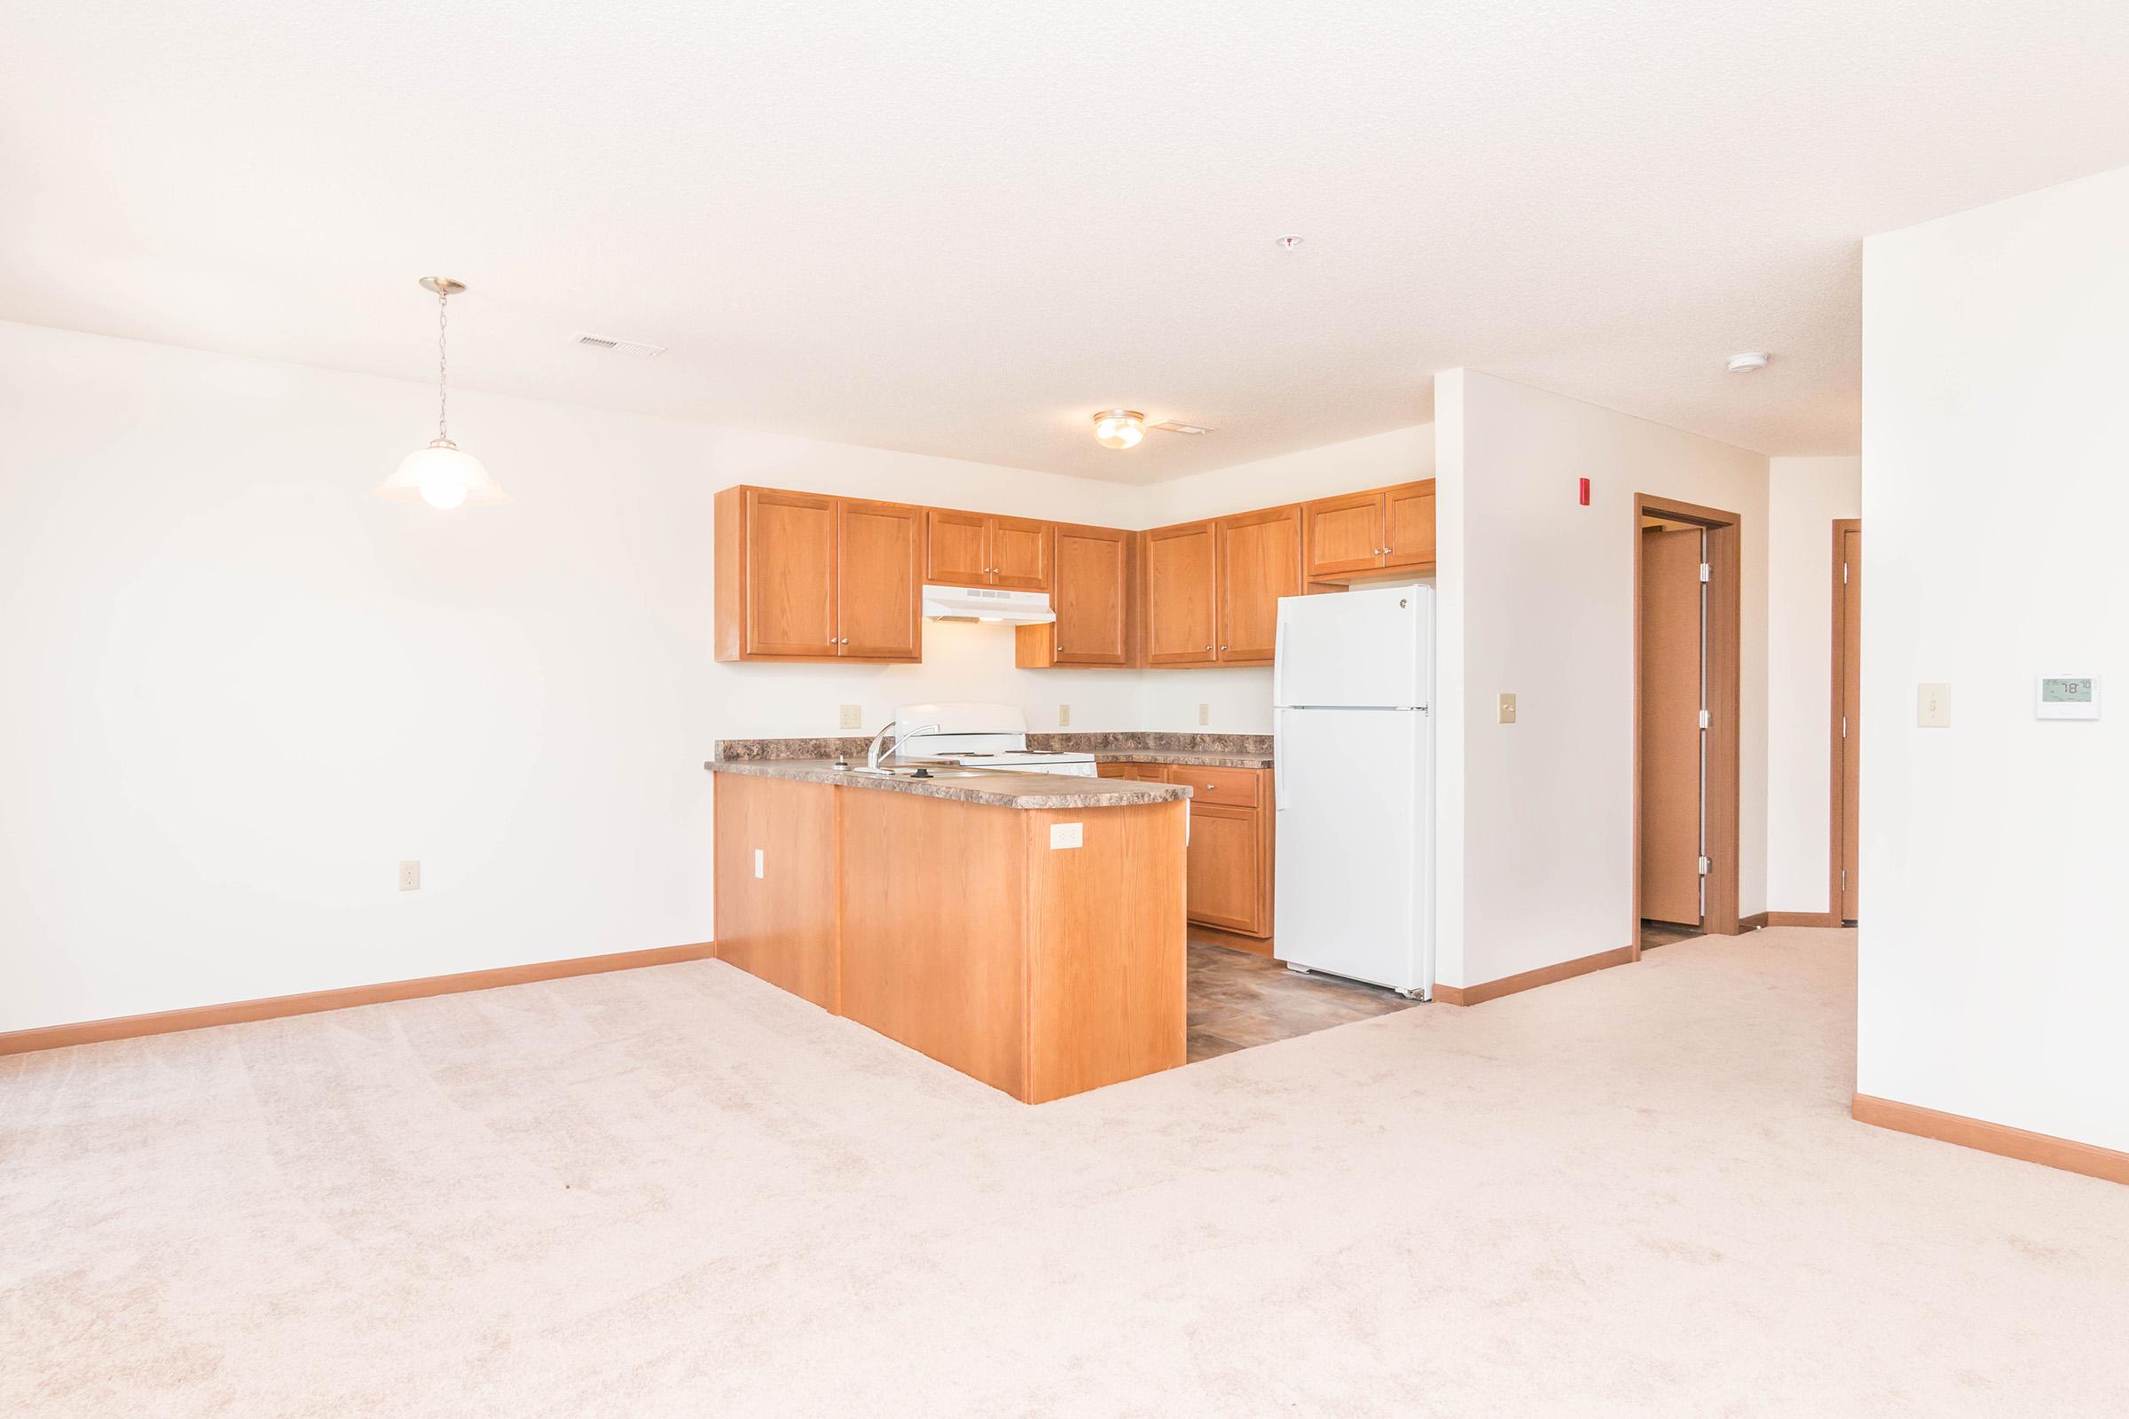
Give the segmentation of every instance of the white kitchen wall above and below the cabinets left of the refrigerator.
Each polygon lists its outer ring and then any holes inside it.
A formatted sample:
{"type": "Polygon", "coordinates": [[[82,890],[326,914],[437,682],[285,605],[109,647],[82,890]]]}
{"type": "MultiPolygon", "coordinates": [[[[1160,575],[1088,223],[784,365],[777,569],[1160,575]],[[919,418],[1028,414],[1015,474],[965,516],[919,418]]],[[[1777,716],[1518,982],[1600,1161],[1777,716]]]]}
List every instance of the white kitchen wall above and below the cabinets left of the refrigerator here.
{"type": "MultiPolygon", "coordinates": [[[[1137,521],[1130,525],[1165,528],[1363,487],[1412,483],[1431,479],[1433,472],[1433,425],[1416,423],[1388,434],[1154,483],[1137,489],[1137,521]]],[[[1139,713],[1148,730],[1271,734],[1271,670],[1148,670],[1141,696],[1139,713]],[[1209,723],[1203,725],[1201,704],[1209,706],[1209,723]]]]}

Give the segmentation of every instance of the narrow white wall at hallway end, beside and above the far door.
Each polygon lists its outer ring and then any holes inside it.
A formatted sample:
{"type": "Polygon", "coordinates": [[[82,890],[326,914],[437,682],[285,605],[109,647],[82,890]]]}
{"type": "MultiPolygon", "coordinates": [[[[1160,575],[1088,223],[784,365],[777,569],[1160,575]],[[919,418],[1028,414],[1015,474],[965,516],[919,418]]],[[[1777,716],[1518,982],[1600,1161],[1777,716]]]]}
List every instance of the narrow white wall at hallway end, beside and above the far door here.
{"type": "Polygon", "coordinates": [[[1861,457],[1767,470],[1767,906],[1822,913],[1833,851],[1833,521],[1863,515],[1861,457]]]}

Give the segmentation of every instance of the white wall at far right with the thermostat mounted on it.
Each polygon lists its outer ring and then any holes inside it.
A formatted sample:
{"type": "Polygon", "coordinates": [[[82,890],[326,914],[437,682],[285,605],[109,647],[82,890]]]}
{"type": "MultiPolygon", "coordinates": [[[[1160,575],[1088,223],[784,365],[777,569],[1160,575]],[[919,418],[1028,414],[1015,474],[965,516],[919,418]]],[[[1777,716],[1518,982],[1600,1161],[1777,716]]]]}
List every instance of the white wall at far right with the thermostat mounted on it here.
{"type": "Polygon", "coordinates": [[[1863,247],[1856,1089],[2129,1149],[2129,168],[1863,247]],[[2097,723],[2035,674],[2112,674],[2097,723]],[[1916,728],[1916,685],[1952,725],[1916,728]]]}

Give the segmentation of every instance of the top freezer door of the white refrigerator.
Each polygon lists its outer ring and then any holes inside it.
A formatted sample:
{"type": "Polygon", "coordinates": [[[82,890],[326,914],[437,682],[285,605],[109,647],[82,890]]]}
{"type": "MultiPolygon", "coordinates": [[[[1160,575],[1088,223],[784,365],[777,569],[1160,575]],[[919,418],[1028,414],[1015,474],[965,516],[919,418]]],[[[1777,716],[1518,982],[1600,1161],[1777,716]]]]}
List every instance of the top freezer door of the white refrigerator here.
{"type": "Polygon", "coordinates": [[[1273,706],[1426,708],[1433,587],[1280,598],[1273,706]]]}

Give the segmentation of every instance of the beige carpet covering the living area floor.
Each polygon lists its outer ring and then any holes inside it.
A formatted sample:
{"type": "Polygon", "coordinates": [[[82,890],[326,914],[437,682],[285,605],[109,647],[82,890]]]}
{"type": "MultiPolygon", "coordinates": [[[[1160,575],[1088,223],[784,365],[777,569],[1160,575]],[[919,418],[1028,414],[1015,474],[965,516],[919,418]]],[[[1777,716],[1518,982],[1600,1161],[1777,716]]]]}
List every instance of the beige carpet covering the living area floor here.
{"type": "Polygon", "coordinates": [[[705,962],[0,1059],[4,1415],[2125,1415],[1763,932],[1022,1108],[705,962]]]}

